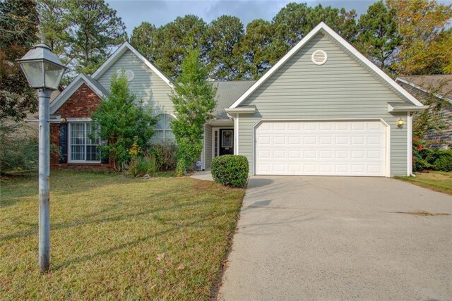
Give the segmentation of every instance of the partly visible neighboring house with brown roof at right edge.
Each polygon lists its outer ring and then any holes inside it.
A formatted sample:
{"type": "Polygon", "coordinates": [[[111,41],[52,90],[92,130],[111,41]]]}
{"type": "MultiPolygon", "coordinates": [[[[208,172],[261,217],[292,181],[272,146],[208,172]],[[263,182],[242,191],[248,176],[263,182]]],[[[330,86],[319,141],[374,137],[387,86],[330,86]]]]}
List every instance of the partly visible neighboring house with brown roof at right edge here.
{"type": "Polygon", "coordinates": [[[440,111],[444,116],[444,129],[430,130],[424,139],[436,147],[450,149],[452,145],[452,75],[400,76],[396,78],[396,82],[422,103],[433,97],[433,100],[446,104],[440,111]]]}

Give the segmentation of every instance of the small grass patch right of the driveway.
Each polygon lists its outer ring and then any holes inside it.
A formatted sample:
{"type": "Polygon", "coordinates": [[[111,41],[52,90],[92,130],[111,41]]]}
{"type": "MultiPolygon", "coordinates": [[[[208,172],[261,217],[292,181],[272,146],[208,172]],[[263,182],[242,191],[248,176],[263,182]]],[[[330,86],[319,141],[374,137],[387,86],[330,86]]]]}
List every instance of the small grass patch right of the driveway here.
{"type": "Polygon", "coordinates": [[[416,173],[416,177],[397,178],[424,188],[452,195],[452,172],[446,173],[444,171],[431,171],[428,173],[416,173]]]}

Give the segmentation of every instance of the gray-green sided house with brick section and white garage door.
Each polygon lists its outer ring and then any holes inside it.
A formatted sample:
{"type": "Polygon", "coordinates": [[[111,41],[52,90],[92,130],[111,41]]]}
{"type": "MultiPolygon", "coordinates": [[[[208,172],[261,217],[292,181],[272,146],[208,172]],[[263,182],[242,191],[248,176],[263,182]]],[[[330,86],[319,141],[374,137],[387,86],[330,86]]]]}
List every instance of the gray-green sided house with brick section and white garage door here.
{"type": "MultiPolygon", "coordinates": [[[[78,75],[52,102],[61,155],[54,168],[108,168],[96,156],[90,111],[124,68],[143,106],[160,116],[155,142],[174,137],[172,80],[124,43],[92,76],[78,75]]],[[[406,176],[412,173],[411,113],[426,109],[355,48],[320,23],[262,78],[214,82],[217,117],[205,125],[202,168],[241,154],[254,175],[406,176]]]]}

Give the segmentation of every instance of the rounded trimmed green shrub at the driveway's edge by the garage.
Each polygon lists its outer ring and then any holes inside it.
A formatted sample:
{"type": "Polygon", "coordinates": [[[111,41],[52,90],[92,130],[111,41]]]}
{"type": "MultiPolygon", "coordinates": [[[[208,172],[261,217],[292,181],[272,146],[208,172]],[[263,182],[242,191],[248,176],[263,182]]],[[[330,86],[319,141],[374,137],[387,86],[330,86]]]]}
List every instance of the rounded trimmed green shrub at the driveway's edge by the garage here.
{"type": "Polygon", "coordinates": [[[222,185],[244,187],[248,181],[249,165],[246,156],[217,156],[212,160],[210,168],[213,180],[222,185]]]}

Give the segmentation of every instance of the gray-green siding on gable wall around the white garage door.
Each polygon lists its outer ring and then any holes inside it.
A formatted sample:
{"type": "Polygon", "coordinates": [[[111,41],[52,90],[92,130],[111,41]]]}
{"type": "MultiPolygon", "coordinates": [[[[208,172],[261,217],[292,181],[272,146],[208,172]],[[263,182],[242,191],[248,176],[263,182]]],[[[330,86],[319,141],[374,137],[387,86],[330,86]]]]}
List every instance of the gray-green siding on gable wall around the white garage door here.
{"type": "Polygon", "coordinates": [[[407,127],[397,128],[406,113],[388,113],[388,102],[404,102],[381,78],[345,49],[318,33],[258,87],[241,105],[256,105],[239,117],[239,153],[253,170],[253,126],[261,119],[383,119],[391,126],[391,176],[407,173],[407,127]],[[317,66],[311,54],[323,49],[328,61],[317,66]]]}

